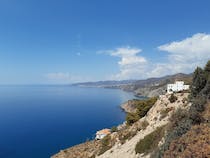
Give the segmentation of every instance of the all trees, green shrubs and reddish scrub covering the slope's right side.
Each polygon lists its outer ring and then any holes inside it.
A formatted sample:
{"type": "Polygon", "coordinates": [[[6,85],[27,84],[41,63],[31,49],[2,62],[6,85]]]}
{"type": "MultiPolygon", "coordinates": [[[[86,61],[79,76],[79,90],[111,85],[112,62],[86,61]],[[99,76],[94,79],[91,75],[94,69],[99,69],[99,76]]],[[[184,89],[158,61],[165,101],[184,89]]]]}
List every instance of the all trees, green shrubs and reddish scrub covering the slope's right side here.
{"type": "Polygon", "coordinates": [[[209,134],[209,126],[203,124],[210,114],[204,118],[203,113],[210,106],[207,104],[210,99],[210,61],[204,69],[198,67],[195,70],[189,99],[192,103],[190,109],[178,110],[172,115],[165,143],[152,157],[199,157],[209,150],[209,144],[202,138],[209,134]]]}

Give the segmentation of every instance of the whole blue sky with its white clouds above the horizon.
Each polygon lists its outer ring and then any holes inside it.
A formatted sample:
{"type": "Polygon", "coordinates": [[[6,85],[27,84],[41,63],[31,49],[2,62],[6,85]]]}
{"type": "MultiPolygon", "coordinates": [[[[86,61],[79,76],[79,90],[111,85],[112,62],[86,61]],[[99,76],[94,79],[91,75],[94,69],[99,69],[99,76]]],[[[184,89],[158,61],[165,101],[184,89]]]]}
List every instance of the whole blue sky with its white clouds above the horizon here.
{"type": "Polygon", "coordinates": [[[145,79],[208,59],[209,0],[0,1],[0,84],[145,79]]]}

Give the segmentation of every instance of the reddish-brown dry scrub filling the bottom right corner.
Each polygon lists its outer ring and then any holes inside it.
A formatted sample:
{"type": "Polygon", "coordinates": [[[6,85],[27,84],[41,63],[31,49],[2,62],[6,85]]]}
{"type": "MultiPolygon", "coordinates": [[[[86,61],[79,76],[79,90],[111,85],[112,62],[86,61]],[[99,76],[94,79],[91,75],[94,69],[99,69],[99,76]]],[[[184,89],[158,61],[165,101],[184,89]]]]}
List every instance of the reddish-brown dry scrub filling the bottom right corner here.
{"type": "Polygon", "coordinates": [[[209,157],[209,140],[209,126],[205,124],[193,126],[185,135],[172,141],[164,157],[209,157]]]}

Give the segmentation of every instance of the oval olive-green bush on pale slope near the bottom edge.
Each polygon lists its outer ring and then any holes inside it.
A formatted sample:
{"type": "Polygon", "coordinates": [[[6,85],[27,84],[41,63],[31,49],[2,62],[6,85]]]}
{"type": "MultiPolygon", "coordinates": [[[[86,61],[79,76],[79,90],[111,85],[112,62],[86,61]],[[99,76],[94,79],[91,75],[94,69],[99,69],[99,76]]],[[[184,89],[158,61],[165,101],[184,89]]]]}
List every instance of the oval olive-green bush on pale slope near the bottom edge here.
{"type": "Polygon", "coordinates": [[[161,141],[164,135],[164,128],[157,128],[154,132],[148,134],[144,139],[140,140],[135,147],[136,153],[148,154],[158,147],[158,143],[161,141]]]}

